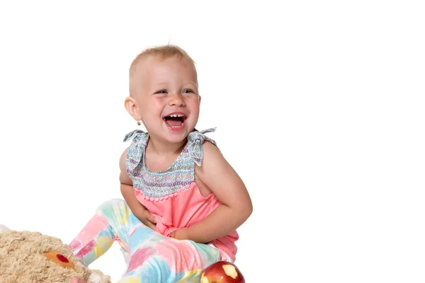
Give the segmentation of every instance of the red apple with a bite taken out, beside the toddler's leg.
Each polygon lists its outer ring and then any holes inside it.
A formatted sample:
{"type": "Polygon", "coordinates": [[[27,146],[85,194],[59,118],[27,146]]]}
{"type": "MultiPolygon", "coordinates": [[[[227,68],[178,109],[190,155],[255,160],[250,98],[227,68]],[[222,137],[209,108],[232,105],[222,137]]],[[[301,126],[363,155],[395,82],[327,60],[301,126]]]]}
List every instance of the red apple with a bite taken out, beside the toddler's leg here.
{"type": "Polygon", "coordinates": [[[245,279],[236,265],[219,261],[205,268],[200,283],[245,283],[245,279]]]}

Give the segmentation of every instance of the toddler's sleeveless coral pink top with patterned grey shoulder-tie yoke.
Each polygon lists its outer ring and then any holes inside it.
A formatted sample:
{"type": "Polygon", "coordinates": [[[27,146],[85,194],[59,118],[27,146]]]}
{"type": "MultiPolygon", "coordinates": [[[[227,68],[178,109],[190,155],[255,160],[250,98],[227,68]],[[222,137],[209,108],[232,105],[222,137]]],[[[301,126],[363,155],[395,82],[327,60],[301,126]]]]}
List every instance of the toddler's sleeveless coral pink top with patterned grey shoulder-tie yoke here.
{"type": "MultiPolygon", "coordinates": [[[[136,130],[124,139],[128,141],[132,138],[126,167],[137,200],[155,217],[157,231],[164,236],[196,224],[220,206],[214,194],[203,197],[195,183],[195,164],[202,166],[203,142],[208,140],[215,144],[205,133],[213,130],[191,132],[180,156],[169,169],[160,172],[149,171],[145,166],[145,147],[149,140],[147,133],[136,130]]],[[[233,231],[211,244],[220,250],[222,260],[234,262],[237,253],[235,241],[238,238],[237,231],[233,231]]]]}

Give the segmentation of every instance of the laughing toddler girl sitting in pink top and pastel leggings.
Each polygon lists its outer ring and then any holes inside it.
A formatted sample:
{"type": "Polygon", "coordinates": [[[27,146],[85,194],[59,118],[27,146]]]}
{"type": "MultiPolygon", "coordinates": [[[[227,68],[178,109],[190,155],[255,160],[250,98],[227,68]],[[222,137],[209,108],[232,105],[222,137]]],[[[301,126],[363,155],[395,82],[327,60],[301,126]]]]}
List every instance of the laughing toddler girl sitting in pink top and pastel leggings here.
{"type": "Polygon", "coordinates": [[[118,241],[128,269],[119,282],[199,282],[205,267],[234,262],[236,229],[252,212],[239,175],[198,132],[196,67],[171,45],[139,54],[125,108],[137,129],[120,158],[124,200],[98,207],[70,248],[88,266],[118,241]]]}

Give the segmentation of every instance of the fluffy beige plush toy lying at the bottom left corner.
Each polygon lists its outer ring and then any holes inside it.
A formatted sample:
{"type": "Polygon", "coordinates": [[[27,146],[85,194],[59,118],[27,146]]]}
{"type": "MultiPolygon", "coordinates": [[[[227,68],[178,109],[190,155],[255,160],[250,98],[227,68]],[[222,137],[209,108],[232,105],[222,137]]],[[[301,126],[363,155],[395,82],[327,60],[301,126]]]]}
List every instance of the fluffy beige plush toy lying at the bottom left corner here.
{"type": "Polygon", "coordinates": [[[111,277],[84,267],[59,238],[0,225],[1,283],[69,283],[74,277],[111,283],[111,277]]]}

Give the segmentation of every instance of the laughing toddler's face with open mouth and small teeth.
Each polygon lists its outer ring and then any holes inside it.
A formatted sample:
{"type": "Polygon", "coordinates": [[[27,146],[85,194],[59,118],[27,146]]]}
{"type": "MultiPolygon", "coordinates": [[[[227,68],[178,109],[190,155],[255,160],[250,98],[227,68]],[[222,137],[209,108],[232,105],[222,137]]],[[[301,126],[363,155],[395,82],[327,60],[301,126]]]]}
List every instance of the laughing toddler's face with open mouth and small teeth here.
{"type": "Polygon", "coordinates": [[[187,59],[159,61],[148,57],[140,66],[140,90],[135,97],[150,135],[180,142],[198,122],[200,96],[196,69],[187,59]],[[172,116],[176,117],[172,117],[172,116]]]}

